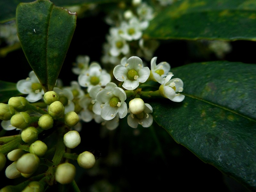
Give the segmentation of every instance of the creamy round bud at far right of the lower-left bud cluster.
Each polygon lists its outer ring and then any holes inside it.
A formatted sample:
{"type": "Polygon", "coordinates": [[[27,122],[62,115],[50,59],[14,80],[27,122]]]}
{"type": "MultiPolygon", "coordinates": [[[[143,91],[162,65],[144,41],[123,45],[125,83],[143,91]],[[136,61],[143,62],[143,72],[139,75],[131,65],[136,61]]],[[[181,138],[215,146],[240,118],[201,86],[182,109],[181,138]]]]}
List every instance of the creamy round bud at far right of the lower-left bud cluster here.
{"type": "Polygon", "coordinates": [[[84,169],[92,168],[95,164],[95,157],[89,151],[84,151],[83,153],[79,154],[77,158],[77,163],[80,167],[84,169]]]}

